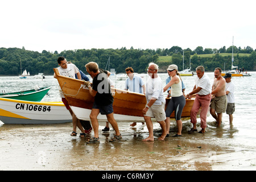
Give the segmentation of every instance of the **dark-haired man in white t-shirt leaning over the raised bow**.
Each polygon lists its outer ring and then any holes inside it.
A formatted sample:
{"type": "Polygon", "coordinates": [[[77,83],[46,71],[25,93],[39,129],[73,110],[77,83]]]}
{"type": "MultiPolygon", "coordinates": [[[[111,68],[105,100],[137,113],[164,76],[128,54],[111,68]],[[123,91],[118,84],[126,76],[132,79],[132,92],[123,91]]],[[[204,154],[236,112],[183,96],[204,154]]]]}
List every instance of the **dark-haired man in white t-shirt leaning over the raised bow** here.
{"type": "MultiPolygon", "coordinates": [[[[79,69],[76,67],[75,64],[68,64],[65,57],[62,57],[62,56],[57,59],[57,62],[60,66],[60,67],[57,68],[60,75],[67,76],[67,77],[70,77],[70,78],[76,78],[75,77],[75,73],[76,73],[77,78],[79,80],[81,80],[81,74],[80,74],[79,69]]],[[[54,77],[55,77],[55,73],[54,73],[54,77]]],[[[60,93],[60,97],[61,97],[61,100],[62,100],[63,104],[66,106],[66,108],[69,110],[69,113],[72,115],[73,132],[71,133],[71,136],[76,137],[76,135],[77,135],[76,126],[77,126],[77,127],[79,127],[79,129],[82,132],[82,133],[80,133],[80,137],[85,137],[85,131],[82,128],[82,125],[81,125],[79,119],[77,119],[76,115],[71,110],[71,107],[68,105],[68,101],[65,99],[65,96],[62,93],[60,93]]]]}

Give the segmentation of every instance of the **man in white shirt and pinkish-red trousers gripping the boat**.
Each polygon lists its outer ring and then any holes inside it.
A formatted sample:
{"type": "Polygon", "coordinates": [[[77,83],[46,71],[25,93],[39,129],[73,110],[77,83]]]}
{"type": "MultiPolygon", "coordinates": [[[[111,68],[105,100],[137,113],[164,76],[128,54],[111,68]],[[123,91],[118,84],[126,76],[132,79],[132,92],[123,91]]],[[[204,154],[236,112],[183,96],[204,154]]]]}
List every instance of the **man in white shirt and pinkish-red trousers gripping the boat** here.
{"type": "Polygon", "coordinates": [[[204,67],[199,66],[196,68],[196,84],[191,93],[187,94],[186,98],[192,98],[193,94],[196,94],[194,104],[191,109],[191,123],[193,128],[189,130],[189,133],[197,131],[196,129],[196,114],[201,107],[200,119],[201,119],[201,131],[199,133],[205,133],[205,128],[207,127],[207,112],[210,105],[210,100],[212,99],[210,87],[210,79],[204,74],[204,67]]]}

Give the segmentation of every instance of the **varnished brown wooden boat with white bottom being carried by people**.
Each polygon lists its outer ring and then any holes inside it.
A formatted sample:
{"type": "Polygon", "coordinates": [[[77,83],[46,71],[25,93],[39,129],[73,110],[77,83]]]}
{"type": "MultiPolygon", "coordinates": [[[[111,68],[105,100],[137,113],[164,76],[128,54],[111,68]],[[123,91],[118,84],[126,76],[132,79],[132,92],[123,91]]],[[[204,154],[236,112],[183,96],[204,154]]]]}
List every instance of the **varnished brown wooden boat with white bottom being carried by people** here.
{"type": "MultiPolygon", "coordinates": [[[[84,85],[84,81],[61,76],[56,68],[54,68],[54,72],[60,85],[60,92],[63,92],[76,117],[82,120],[90,120],[89,115],[93,106],[94,97],[90,96],[89,89],[84,85]]],[[[111,92],[114,97],[113,109],[116,121],[144,121],[142,109],[147,103],[144,94],[115,88],[111,88],[111,92]]],[[[170,101],[170,98],[166,98],[166,105],[168,101],[170,101]]],[[[190,117],[193,102],[193,99],[186,100],[181,117],[190,117]]],[[[174,118],[174,113],[171,114],[170,118],[174,118]]],[[[98,121],[106,121],[106,116],[99,115],[98,121]]]]}

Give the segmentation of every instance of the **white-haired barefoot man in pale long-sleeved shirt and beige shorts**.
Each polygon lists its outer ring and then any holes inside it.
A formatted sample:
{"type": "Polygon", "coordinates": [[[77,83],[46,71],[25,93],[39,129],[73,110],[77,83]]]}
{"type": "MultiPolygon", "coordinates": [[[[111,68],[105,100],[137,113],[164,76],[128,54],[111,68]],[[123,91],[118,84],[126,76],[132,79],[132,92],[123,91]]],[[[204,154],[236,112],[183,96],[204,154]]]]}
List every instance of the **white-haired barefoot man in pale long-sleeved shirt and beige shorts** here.
{"type": "Polygon", "coordinates": [[[146,84],[146,100],[147,105],[142,110],[144,120],[147,125],[149,136],[143,141],[154,141],[153,124],[151,118],[155,118],[162,128],[162,135],[158,140],[164,140],[166,137],[166,112],[164,107],[166,99],[163,94],[163,84],[161,78],[158,76],[158,65],[150,63],[148,65],[147,73],[150,76],[146,84]]]}

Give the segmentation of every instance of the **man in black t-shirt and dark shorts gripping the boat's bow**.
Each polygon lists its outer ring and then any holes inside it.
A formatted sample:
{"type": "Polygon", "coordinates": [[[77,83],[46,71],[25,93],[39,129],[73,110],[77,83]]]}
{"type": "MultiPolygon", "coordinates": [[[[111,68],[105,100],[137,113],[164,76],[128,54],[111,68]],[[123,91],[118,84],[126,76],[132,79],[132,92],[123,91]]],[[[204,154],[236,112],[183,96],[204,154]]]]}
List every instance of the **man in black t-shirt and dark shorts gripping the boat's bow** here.
{"type": "Polygon", "coordinates": [[[104,69],[99,69],[98,64],[90,62],[85,65],[86,71],[93,78],[93,85],[90,86],[87,82],[86,86],[89,88],[90,95],[94,97],[94,103],[92,111],[90,113],[90,121],[92,122],[94,137],[89,139],[87,143],[99,143],[98,137],[98,114],[106,115],[108,122],[115,130],[114,138],[110,139],[110,142],[121,140],[122,136],[119,132],[117,122],[114,119],[113,101],[114,98],[110,92],[110,84],[108,76],[110,72],[104,69]]]}

